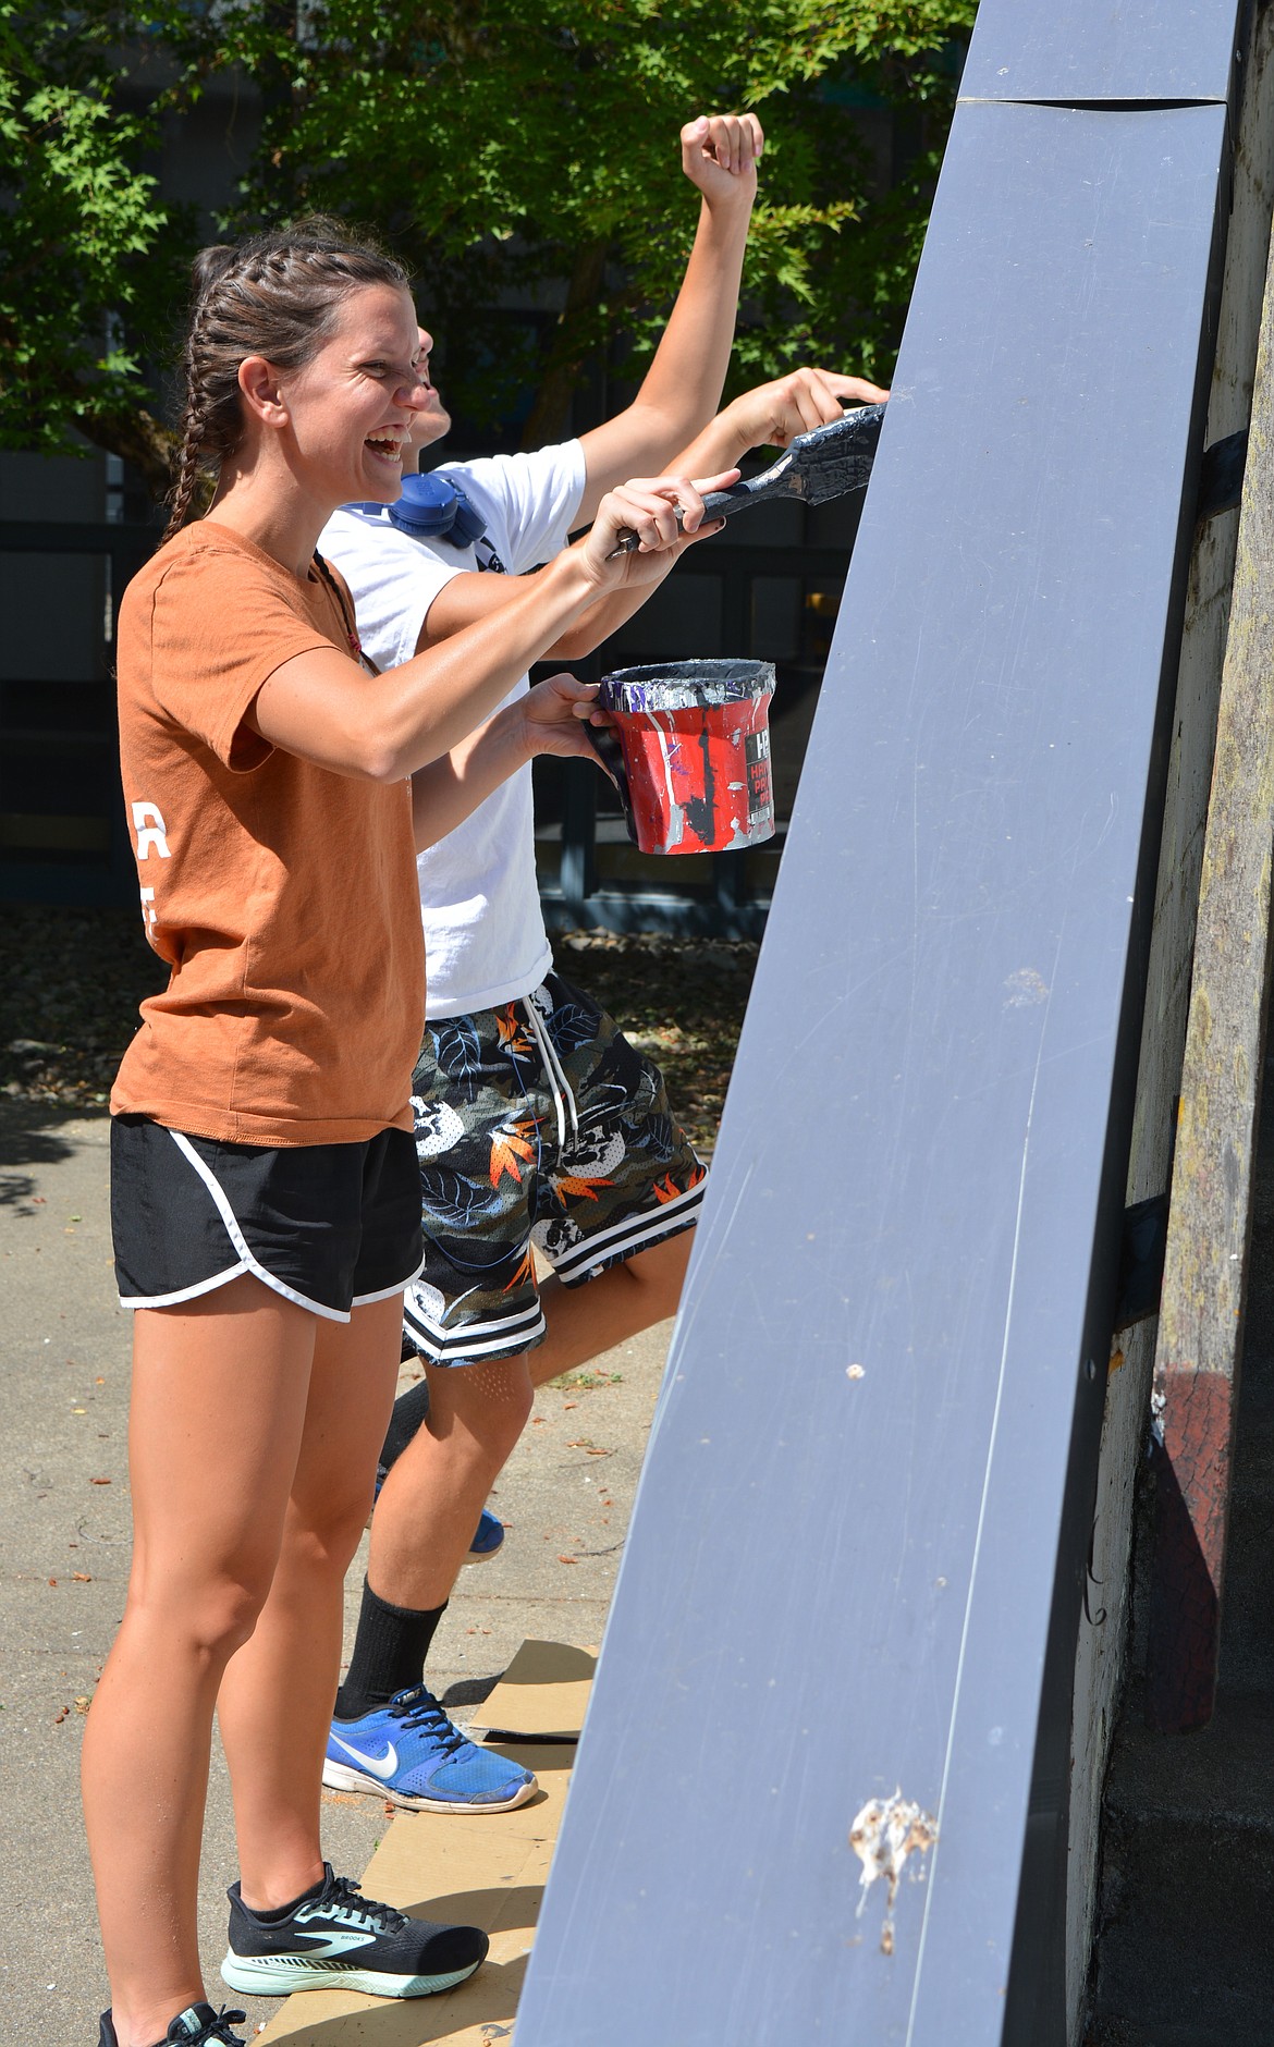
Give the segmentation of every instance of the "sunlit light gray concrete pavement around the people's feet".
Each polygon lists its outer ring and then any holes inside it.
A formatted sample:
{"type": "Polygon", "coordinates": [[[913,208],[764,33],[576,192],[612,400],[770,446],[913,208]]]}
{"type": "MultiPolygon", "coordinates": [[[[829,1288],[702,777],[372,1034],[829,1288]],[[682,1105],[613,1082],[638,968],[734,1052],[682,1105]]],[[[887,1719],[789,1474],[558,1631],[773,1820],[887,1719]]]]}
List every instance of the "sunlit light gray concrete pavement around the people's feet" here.
{"type": "MultiPolygon", "coordinates": [[[[0,1838],[10,1873],[0,2039],[47,2047],[96,2043],[107,2002],[78,1797],[84,1711],[129,1568],[131,1316],[113,1286],[107,1140],[104,1116],[0,1103],[0,1838]]],[[[430,1683],[457,1717],[485,1697],[524,1636],[600,1640],[668,1335],[662,1324],[539,1394],[494,1496],[508,1523],[504,1550],[461,1574],[430,1658],[430,1683]]],[[[363,1558],[348,1623],[360,1574],[363,1558]]],[[[162,1670],[154,1709],[164,1711],[162,1670]]],[[[447,1816],[424,1824],[444,1828],[447,1816]]],[[[338,1869],[360,1875],[383,1830],[379,1799],[326,1795],[338,1869]]],[[[238,2002],[215,1973],[233,1873],[217,1754],[201,1881],[215,2004],[238,2002]]],[[[252,2022],[272,2010],[252,2000],[252,2022]]]]}

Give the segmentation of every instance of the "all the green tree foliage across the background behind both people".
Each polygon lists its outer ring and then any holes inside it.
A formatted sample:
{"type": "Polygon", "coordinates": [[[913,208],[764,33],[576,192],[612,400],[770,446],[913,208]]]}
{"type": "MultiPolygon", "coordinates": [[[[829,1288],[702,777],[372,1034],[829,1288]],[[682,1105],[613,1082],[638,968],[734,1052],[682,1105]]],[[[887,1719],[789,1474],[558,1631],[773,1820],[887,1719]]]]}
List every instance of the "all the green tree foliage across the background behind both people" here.
{"type": "MultiPolygon", "coordinates": [[[[227,231],[309,209],[379,229],[416,268],[449,399],[500,418],[533,389],[535,444],[561,430],[600,354],[627,350],[625,375],[639,375],[696,219],[676,135],[715,108],[756,108],[768,137],[737,381],[799,360],[887,375],[973,12],[975,0],[152,0],[143,20],[113,27],[117,47],[162,41],[170,106],[227,70],[260,90],[260,145],[227,231]],[[897,162],[873,162],[854,106],[895,115],[901,178],[897,162]],[[500,311],[528,299],[557,309],[543,332],[500,311]]],[[[6,33],[27,18],[0,0],[6,33]]],[[[70,420],[111,446],[127,405],[154,403],[139,362],[180,303],[172,264],[188,223],[145,176],[145,121],[117,111],[109,29],[78,14],[0,45],[0,123],[16,143],[14,176],[0,170],[0,340],[23,344],[0,383],[10,446],[33,444],[23,416],[35,413],[41,444],[70,420]],[[51,276],[57,244],[74,264],[51,276]]]]}

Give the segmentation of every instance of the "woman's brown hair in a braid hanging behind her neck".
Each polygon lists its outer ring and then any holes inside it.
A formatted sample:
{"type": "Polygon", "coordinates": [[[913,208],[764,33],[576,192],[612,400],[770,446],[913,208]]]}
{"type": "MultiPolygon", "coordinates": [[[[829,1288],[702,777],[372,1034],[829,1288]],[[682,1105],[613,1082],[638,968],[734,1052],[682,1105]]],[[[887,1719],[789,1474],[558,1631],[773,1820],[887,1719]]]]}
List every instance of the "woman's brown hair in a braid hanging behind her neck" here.
{"type": "Polygon", "coordinates": [[[215,477],[244,436],[240,362],[264,356],[303,368],[330,340],[342,299],[365,285],[408,289],[408,272],[340,221],[309,215],[295,227],[201,250],[193,264],[190,330],[182,354],[186,405],[164,540],[186,524],[201,475],[215,477]]]}

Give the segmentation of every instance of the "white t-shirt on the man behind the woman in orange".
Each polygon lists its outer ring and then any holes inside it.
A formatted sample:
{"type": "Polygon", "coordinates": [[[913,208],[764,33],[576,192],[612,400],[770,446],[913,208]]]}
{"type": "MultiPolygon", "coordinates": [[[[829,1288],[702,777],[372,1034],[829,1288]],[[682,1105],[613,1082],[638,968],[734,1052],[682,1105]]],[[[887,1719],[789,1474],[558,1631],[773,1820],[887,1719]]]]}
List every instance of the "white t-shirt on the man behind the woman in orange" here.
{"type": "MultiPolygon", "coordinates": [[[[320,536],[354,594],[358,637],[377,667],[416,653],[428,608],[453,575],[473,573],[492,553],[524,575],[565,547],[584,495],[584,448],[567,440],[535,454],[442,463],[487,530],[473,547],[416,540],[391,524],[387,508],[342,506],[320,536]]],[[[526,676],[504,698],[512,704],[526,676]]],[[[416,856],[430,1017],[465,1015],[518,1001],[539,987],[553,954],[535,878],[530,766],[416,856]]]]}

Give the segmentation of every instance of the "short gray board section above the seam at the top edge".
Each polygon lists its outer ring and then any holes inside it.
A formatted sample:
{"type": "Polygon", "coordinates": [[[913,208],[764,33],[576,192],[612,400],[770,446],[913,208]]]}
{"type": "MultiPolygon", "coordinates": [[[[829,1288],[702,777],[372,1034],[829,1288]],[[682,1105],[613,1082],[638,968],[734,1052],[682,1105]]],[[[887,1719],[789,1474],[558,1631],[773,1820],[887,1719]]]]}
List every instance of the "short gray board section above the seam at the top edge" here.
{"type": "Polygon", "coordinates": [[[961,96],[1225,100],[1245,0],[981,0],[961,96]]]}

